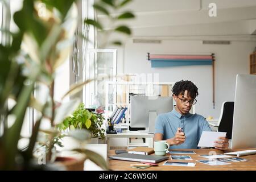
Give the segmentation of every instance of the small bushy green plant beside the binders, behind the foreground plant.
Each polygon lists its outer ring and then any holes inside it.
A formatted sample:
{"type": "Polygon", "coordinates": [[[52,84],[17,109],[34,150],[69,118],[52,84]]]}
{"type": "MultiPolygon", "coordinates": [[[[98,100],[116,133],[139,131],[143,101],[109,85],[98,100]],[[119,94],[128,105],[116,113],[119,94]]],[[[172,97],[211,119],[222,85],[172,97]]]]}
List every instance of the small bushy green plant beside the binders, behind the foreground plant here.
{"type": "Polygon", "coordinates": [[[100,113],[92,113],[85,109],[84,104],[79,107],[69,117],[65,118],[62,123],[57,125],[60,131],[69,131],[74,129],[86,129],[90,132],[91,138],[98,143],[98,138],[105,139],[105,129],[102,129],[104,116],[100,113]]]}

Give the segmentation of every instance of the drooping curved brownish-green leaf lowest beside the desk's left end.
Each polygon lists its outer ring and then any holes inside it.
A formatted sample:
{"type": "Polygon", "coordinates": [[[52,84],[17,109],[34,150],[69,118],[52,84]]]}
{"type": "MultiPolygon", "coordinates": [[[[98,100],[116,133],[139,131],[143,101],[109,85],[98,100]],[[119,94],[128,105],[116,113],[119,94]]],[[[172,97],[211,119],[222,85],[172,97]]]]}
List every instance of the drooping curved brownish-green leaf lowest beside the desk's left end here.
{"type": "Polygon", "coordinates": [[[97,154],[96,152],[87,149],[75,149],[75,151],[85,154],[87,159],[92,160],[93,163],[97,164],[102,169],[109,169],[106,160],[100,154],[97,154]]]}

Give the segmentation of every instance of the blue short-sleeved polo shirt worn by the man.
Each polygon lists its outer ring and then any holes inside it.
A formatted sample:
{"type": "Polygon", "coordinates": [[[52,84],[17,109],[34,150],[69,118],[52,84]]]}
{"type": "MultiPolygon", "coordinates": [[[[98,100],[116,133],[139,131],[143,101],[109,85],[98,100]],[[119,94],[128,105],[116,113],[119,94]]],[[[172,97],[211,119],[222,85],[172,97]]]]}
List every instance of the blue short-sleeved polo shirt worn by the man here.
{"type": "Polygon", "coordinates": [[[156,118],[155,133],[163,134],[163,140],[173,138],[178,127],[183,127],[186,140],[183,144],[171,146],[170,149],[196,149],[203,131],[211,131],[208,122],[199,114],[181,115],[173,109],[169,113],[159,114],[156,118]]]}

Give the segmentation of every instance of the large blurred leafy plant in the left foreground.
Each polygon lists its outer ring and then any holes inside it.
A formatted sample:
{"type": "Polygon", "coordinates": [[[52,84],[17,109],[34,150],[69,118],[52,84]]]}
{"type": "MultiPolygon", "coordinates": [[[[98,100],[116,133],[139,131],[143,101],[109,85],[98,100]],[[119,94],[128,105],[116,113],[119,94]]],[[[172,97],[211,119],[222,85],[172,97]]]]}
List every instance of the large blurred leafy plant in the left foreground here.
{"type": "MultiPolygon", "coordinates": [[[[8,5],[9,1],[3,2],[8,5]]],[[[80,103],[77,99],[68,102],[54,100],[56,69],[67,59],[76,30],[77,10],[74,2],[75,0],[24,0],[22,9],[13,16],[18,30],[14,33],[10,32],[10,27],[3,27],[2,34],[5,34],[6,42],[0,45],[0,120],[5,127],[0,136],[0,169],[47,169],[47,166],[51,166],[52,148],[59,144],[57,138],[60,137],[56,126],[80,103]],[[45,5],[43,11],[39,10],[39,3],[45,5]],[[47,97],[43,102],[33,95],[37,89],[36,84],[47,87],[47,97]],[[10,99],[15,102],[11,108],[7,107],[10,99]],[[27,148],[20,150],[17,146],[28,107],[38,111],[38,118],[27,148]],[[47,119],[51,124],[47,130],[40,129],[43,119],[47,119]],[[12,121],[13,125],[7,127],[9,121],[12,121]],[[47,137],[47,141],[42,143],[47,151],[47,165],[43,166],[38,165],[34,158],[36,143],[39,142],[38,139],[42,139],[40,132],[47,137]]],[[[114,1],[109,2],[111,6],[116,6],[114,1]]],[[[123,2],[120,5],[123,6],[129,1],[123,2]]],[[[99,6],[100,3],[94,7],[101,9],[99,6]]],[[[124,17],[127,17],[127,14],[120,19],[124,17]]],[[[10,15],[7,19],[10,20],[10,15]]],[[[86,19],[85,23],[98,26],[96,21],[90,19],[86,19]]],[[[117,31],[130,34],[123,26],[117,28],[117,31]]],[[[92,80],[71,86],[71,90],[64,94],[63,98],[79,92],[90,81],[92,80]]],[[[68,135],[81,141],[89,138],[88,131],[83,129],[72,130],[68,135]]],[[[86,158],[103,169],[108,169],[101,155],[82,148],[75,150],[85,154],[86,158]]]]}

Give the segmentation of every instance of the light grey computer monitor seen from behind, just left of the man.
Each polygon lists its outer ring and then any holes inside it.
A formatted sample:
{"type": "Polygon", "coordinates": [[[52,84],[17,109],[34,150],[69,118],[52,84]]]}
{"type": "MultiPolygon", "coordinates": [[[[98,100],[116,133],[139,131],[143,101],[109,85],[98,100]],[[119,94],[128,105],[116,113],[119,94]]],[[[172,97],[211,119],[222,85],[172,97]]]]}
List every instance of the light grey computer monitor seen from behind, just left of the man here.
{"type": "Polygon", "coordinates": [[[131,127],[146,127],[154,133],[155,119],[158,114],[172,111],[172,97],[131,97],[131,127]]]}

